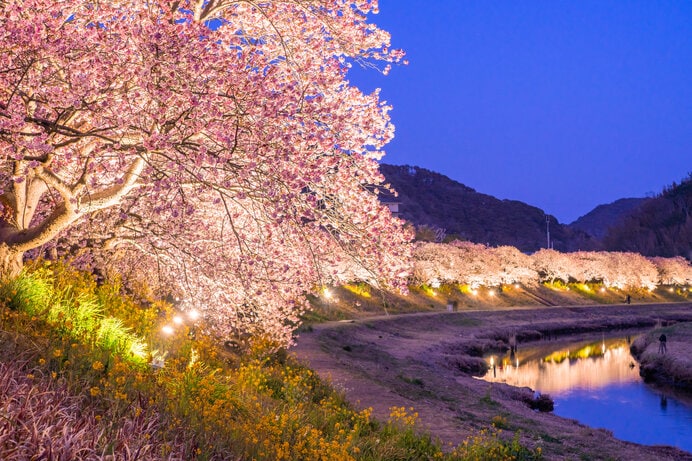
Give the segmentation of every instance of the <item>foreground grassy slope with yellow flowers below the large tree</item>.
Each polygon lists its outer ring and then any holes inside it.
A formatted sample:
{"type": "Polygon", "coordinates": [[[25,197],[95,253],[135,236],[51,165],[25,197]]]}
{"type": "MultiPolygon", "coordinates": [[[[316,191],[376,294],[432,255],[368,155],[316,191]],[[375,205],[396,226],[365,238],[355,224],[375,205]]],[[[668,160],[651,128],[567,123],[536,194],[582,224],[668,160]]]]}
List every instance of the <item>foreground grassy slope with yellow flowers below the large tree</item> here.
{"type": "Polygon", "coordinates": [[[443,447],[376,420],[261,338],[219,346],[172,306],[60,265],[0,287],[0,459],[539,459],[479,432],[443,447]],[[140,297],[141,298],[141,297],[140,297]]]}

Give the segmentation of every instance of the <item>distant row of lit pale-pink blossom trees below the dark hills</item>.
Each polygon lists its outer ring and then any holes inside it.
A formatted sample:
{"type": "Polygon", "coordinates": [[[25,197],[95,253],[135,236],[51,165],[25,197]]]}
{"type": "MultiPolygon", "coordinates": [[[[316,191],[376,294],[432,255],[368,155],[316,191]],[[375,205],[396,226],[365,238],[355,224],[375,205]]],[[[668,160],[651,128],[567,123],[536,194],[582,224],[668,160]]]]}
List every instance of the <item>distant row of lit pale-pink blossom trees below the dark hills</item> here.
{"type": "Polygon", "coordinates": [[[602,283],[619,289],[692,284],[692,266],[682,258],[638,253],[543,249],[527,255],[514,247],[455,241],[422,243],[414,250],[413,282],[427,285],[535,285],[562,281],[602,283]]]}

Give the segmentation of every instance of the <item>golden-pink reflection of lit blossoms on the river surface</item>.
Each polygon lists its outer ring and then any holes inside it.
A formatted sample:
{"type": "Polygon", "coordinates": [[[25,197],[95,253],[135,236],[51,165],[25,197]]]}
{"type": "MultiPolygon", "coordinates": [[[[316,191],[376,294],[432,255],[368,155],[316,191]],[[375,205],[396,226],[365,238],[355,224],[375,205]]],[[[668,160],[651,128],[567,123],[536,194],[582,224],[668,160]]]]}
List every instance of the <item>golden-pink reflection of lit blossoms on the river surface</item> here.
{"type": "Polygon", "coordinates": [[[541,354],[536,348],[521,352],[522,357],[536,358],[520,363],[518,354],[498,360],[491,357],[490,370],[483,379],[530,387],[552,395],[575,388],[598,389],[614,382],[640,379],[636,368],[630,367],[632,358],[624,340],[585,344],[571,351],[547,351],[547,354],[541,354]]]}

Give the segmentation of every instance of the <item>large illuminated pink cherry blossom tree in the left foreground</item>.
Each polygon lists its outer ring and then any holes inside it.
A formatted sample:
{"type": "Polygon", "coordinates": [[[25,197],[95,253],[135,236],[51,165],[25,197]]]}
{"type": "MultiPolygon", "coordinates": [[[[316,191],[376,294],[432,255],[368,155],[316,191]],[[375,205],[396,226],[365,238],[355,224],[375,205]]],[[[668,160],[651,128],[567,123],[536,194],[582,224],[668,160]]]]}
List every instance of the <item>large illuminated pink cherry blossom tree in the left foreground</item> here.
{"type": "Polygon", "coordinates": [[[344,261],[397,283],[409,235],[377,199],[389,107],[346,79],[402,57],[376,9],[0,1],[0,274],[76,251],[282,339],[344,261]]]}

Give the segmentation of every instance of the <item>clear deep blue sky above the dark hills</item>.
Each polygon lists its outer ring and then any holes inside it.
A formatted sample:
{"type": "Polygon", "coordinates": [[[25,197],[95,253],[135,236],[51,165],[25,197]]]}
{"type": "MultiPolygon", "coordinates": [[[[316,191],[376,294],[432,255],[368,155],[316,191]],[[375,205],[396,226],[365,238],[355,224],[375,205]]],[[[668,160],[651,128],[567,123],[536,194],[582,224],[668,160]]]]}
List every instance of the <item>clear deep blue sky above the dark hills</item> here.
{"type": "Polygon", "coordinates": [[[380,0],[408,66],[382,88],[384,162],[569,223],[692,172],[692,1],[380,0]]]}

